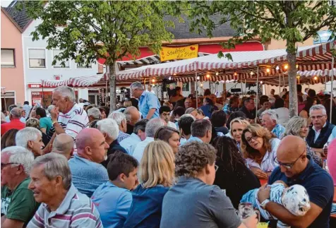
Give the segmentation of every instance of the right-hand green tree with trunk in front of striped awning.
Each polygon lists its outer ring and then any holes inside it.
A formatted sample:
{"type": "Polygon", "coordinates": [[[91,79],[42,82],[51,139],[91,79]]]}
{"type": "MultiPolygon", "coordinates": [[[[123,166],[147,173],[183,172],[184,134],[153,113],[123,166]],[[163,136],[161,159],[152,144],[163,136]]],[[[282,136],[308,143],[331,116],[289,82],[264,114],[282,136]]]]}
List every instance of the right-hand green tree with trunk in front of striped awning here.
{"type": "MultiPolygon", "coordinates": [[[[230,23],[237,30],[223,46],[232,48],[239,42],[260,37],[285,40],[289,75],[289,113],[297,114],[296,44],[317,35],[318,30],[328,28],[335,37],[336,8],[329,1],[190,1],[191,31],[201,32],[205,26],[208,36],[217,26],[211,16],[222,16],[219,24],[230,23]]],[[[222,53],[219,53],[221,56],[222,53]]],[[[229,56],[227,56],[229,57],[229,56]]]]}

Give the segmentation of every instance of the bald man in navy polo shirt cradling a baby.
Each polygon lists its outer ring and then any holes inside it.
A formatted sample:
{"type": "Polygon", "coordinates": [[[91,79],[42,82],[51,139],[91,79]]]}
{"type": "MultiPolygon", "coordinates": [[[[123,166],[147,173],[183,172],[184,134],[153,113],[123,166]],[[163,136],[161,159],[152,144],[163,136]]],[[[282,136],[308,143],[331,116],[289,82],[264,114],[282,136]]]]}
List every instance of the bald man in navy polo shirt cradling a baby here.
{"type": "Polygon", "coordinates": [[[268,184],[284,181],[288,186],[300,184],[306,188],[311,201],[311,209],[304,216],[296,216],[282,205],[269,201],[270,187],[260,187],[258,200],[278,220],[291,227],[329,227],[329,217],[334,196],[331,176],[307,155],[306,143],[298,136],[286,136],[277,148],[276,167],[268,184]]]}

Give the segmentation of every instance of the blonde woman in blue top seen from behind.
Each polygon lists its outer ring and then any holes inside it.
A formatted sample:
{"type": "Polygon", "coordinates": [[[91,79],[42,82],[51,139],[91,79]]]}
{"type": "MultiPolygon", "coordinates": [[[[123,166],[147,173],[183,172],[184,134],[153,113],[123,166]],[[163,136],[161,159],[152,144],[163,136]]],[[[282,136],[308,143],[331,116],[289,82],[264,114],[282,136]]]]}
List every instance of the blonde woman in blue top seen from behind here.
{"type": "Polygon", "coordinates": [[[168,143],[149,143],[140,161],[141,184],[133,191],[133,202],[124,228],[160,227],[162,200],[174,183],[174,152],[168,143]]]}

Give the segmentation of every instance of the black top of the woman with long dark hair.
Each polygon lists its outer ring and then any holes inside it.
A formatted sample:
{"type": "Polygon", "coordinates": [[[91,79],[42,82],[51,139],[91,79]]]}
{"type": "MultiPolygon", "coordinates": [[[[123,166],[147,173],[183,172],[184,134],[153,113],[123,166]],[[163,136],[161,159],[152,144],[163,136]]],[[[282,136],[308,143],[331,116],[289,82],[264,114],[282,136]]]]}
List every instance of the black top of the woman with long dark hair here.
{"type": "Polygon", "coordinates": [[[237,163],[234,171],[224,169],[224,164],[217,160],[218,170],[214,184],[225,189],[234,208],[238,209],[241,197],[248,191],[259,188],[260,181],[245,164],[237,163]]]}

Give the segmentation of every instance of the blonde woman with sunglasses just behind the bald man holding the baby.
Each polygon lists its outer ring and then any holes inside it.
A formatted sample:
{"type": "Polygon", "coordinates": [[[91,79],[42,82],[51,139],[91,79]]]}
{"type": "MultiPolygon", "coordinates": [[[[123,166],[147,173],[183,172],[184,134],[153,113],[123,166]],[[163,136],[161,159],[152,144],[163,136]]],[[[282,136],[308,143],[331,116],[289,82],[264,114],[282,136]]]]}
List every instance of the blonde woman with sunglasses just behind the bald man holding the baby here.
{"type": "MultiPolygon", "coordinates": [[[[286,130],[284,131],[284,136],[299,136],[306,142],[306,137],[308,136],[308,124],[307,119],[302,118],[301,116],[293,116],[292,119],[289,119],[286,130]]],[[[311,147],[306,143],[307,155],[311,156],[316,164],[320,167],[323,166],[321,157],[316,155],[311,147]]]]}

